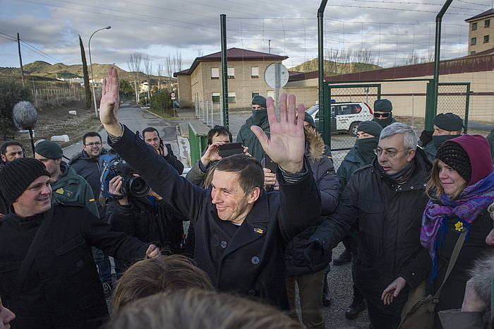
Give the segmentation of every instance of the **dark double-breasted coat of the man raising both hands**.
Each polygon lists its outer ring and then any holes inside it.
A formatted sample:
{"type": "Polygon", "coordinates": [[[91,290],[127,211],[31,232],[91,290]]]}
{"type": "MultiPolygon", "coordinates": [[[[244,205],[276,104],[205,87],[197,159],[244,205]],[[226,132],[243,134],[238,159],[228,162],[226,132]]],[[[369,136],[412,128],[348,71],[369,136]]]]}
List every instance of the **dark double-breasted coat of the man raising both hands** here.
{"type": "Polygon", "coordinates": [[[153,191],[193,222],[194,259],[219,291],[258,297],[288,309],[285,246],[296,234],[315,225],[320,215],[320,197],[310,169],[294,184],[285,183],[278,173],[280,192],[262,191],[246,220],[234,227],[219,219],[211,187],[200,189],[180,177],[128,128],[111,144],[153,191]]]}

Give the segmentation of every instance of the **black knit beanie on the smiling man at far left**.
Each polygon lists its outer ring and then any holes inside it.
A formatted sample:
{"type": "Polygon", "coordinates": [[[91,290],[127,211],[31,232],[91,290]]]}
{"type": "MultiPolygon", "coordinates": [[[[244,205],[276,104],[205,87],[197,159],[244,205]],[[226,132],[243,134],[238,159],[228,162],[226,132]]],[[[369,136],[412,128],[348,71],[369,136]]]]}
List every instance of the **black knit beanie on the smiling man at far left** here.
{"type": "Polygon", "coordinates": [[[0,190],[8,203],[13,203],[40,176],[48,176],[44,164],[32,157],[7,162],[0,170],[0,190]]]}

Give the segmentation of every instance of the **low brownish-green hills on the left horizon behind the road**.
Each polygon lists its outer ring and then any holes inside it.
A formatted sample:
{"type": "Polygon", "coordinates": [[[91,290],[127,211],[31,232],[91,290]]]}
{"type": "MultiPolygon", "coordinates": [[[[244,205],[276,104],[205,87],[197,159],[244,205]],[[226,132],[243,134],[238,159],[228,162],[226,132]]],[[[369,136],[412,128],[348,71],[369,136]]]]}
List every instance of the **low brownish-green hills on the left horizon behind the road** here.
{"type": "MultiPolygon", "coordinates": [[[[100,80],[107,76],[109,64],[92,64],[92,70],[95,74],[95,80],[100,80]]],[[[125,80],[133,80],[134,74],[122,70],[118,66],[116,67],[116,71],[119,72],[119,76],[125,80]]],[[[30,74],[31,76],[42,76],[44,78],[56,78],[57,73],[59,76],[72,76],[72,77],[83,77],[83,65],[65,65],[61,63],[57,64],[49,64],[46,61],[35,61],[30,64],[26,64],[23,66],[24,72],[30,74]]],[[[89,75],[91,77],[90,66],[88,64],[89,75]]],[[[2,74],[10,74],[10,75],[20,75],[20,68],[4,68],[0,67],[0,73],[2,74]]],[[[144,73],[140,72],[140,77],[144,76],[144,73]]],[[[151,83],[155,83],[157,80],[157,76],[151,76],[151,83]]],[[[142,78],[140,78],[142,80],[142,78]]],[[[171,78],[162,77],[162,81],[171,80],[171,78]]]]}

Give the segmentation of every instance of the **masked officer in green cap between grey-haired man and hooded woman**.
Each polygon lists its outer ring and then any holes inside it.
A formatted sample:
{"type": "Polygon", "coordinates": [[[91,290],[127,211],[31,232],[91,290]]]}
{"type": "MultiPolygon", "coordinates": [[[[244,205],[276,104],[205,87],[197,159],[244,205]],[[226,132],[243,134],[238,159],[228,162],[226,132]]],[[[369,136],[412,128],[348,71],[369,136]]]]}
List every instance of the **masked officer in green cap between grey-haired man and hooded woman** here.
{"type": "MultiPolygon", "coordinates": [[[[440,113],[434,118],[434,131],[430,142],[423,144],[423,151],[426,152],[430,162],[434,162],[435,154],[442,143],[452,138],[457,138],[462,134],[463,120],[453,113],[440,113]]],[[[423,141],[422,141],[423,143],[423,141]]]]}

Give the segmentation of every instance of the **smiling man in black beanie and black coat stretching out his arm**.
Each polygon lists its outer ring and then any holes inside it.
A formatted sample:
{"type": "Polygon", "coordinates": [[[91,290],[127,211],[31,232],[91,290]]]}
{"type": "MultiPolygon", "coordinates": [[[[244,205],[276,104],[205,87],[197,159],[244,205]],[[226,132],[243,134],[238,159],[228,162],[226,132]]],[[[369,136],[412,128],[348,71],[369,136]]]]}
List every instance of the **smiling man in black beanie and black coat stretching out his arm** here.
{"type": "Polygon", "coordinates": [[[51,203],[42,162],[0,171],[11,213],[0,221],[0,295],[14,328],[99,328],[108,318],[90,246],[117,258],[157,256],[156,246],[114,232],[79,203],[51,203]]]}

